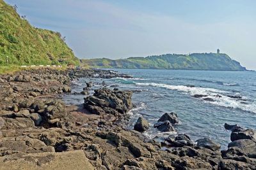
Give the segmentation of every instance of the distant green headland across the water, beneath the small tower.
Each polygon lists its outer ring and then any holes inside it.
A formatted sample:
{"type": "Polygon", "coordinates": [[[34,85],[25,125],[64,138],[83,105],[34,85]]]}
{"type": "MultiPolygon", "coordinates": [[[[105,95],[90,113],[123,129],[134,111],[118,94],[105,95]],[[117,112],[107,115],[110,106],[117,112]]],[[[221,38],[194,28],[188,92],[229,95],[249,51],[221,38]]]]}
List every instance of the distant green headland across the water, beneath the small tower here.
{"type": "Polygon", "coordinates": [[[225,53],[165,54],[128,59],[83,59],[84,66],[129,69],[198,69],[244,71],[236,60],[225,53]]]}

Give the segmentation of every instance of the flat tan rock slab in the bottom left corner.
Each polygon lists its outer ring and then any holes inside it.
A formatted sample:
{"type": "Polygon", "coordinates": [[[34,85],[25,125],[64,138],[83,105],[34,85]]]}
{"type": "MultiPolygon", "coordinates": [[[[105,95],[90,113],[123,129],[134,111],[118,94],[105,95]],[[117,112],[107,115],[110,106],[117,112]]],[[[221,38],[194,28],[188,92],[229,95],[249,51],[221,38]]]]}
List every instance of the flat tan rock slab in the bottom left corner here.
{"type": "Polygon", "coordinates": [[[29,153],[0,157],[0,169],[95,169],[84,155],[83,150],[60,153],[29,153]]]}

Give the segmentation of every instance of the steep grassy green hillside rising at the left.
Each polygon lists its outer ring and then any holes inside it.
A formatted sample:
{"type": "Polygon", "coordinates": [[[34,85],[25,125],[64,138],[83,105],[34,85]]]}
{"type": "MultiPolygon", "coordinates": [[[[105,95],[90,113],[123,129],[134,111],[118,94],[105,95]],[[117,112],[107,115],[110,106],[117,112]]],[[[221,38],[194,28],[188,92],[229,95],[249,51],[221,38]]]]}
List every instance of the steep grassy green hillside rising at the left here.
{"type": "Polygon", "coordinates": [[[31,26],[0,0],[0,65],[78,63],[59,32],[31,26]]]}

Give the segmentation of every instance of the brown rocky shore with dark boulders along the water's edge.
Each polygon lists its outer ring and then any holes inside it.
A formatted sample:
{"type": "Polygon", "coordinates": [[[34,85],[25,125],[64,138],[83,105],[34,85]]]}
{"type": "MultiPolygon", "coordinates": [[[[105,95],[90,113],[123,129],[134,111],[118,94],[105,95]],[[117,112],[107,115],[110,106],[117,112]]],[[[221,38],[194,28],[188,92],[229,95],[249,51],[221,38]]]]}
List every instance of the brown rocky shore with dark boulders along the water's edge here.
{"type": "MultiPolygon", "coordinates": [[[[225,124],[227,150],[204,138],[169,136],[148,139],[144,118],[127,130],[127,112],[135,107],[130,90],[102,87],[84,103],[66,106],[72,80],[130,76],[106,70],[32,69],[0,75],[0,169],[256,169],[256,131],[225,124]]],[[[175,131],[179,114],[166,113],[154,126],[175,131]]],[[[224,128],[224,125],[223,125],[224,128]]]]}

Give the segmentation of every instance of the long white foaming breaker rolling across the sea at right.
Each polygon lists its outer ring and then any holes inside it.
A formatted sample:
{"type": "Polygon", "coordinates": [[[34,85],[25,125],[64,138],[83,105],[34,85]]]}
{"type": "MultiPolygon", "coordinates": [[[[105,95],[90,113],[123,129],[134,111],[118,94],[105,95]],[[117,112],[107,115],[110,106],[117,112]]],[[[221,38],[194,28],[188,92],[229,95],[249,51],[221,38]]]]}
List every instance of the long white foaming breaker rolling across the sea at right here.
{"type": "Polygon", "coordinates": [[[211,101],[205,101],[205,103],[216,104],[218,106],[223,106],[226,108],[234,108],[243,111],[249,111],[256,113],[256,102],[250,101],[246,97],[241,96],[241,94],[230,94],[230,92],[211,89],[204,87],[189,87],[184,85],[167,85],[162,83],[136,83],[140,86],[152,86],[152,87],[162,87],[170,90],[177,90],[181,92],[186,92],[187,94],[194,96],[195,94],[201,95],[202,99],[210,99],[211,101]],[[241,96],[239,99],[230,96],[241,96]]]}

